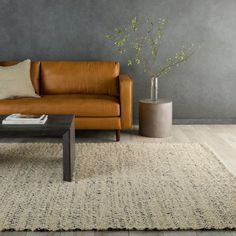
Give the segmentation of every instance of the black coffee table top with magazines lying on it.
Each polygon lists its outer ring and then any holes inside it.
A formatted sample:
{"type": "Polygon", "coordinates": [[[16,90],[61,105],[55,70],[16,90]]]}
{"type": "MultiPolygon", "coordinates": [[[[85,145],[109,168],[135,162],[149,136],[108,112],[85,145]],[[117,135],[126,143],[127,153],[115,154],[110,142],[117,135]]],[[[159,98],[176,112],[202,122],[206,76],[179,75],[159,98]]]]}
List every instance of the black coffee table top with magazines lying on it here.
{"type": "Polygon", "coordinates": [[[2,124],[8,115],[0,115],[1,136],[60,136],[69,130],[74,122],[74,115],[48,115],[45,124],[2,124]]]}

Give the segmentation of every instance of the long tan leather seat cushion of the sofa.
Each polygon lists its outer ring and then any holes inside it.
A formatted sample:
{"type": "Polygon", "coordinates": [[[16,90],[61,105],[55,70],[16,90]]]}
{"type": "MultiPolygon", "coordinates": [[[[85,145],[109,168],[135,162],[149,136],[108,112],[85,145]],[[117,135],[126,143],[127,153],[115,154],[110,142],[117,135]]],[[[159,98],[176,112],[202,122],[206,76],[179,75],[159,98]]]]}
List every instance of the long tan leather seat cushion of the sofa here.
{"type": "Polygon", "coordinates": [[[74,114],[77,117],[120,116],[119,100],[106,95],[44,95],[0,100],[0,114],[74,114]]]}

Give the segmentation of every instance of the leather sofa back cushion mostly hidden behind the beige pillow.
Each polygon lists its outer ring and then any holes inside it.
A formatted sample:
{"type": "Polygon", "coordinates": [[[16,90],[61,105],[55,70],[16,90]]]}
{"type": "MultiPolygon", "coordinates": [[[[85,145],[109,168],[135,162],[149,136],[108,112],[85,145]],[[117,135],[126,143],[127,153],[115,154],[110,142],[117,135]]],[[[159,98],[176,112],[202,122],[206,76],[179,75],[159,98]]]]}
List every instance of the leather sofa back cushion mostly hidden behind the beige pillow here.
{"type": "MultiPolygon", "coordinates": [[[[12,66],[19,63],[19,61],[1,61],[0,66],[12,66]]],[[[40,62],[35,61],[31,62],[31,81],[34,86],[34,90],[37,94],[40,94],[40,87],[39,87],[39,69],[40,69],[40,62]]]]}

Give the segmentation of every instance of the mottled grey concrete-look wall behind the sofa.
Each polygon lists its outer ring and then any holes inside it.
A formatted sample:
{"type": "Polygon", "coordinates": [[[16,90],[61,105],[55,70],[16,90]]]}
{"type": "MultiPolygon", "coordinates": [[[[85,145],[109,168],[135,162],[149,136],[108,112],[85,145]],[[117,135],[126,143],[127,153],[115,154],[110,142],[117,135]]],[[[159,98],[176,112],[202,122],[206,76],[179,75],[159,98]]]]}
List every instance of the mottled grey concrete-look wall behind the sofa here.
{"type": "Polygon", "coordinates": [[[123,73],[134,74],[136,120],[150,78],[128,68],[104,35],[132,16],[168,18],[160,60],[184,43],[203,45],[160,81],[174,118],[234,119],[235,12],[235,0],[0,0],[0,60],[119,60],[123,73]]]}

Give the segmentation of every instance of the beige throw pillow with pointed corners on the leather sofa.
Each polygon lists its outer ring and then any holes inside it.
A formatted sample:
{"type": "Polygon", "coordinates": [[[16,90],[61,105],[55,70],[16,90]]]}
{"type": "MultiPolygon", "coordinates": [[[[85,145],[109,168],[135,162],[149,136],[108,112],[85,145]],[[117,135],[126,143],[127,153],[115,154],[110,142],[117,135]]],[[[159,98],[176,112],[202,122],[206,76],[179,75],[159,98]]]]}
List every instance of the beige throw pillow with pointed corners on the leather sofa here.
{"type": "Polygon", "coordinates": [[[14,66],[0,66],[0,99],[39,97],[30,79],[30,64],[28,59],[14,66]]]}

